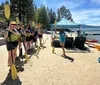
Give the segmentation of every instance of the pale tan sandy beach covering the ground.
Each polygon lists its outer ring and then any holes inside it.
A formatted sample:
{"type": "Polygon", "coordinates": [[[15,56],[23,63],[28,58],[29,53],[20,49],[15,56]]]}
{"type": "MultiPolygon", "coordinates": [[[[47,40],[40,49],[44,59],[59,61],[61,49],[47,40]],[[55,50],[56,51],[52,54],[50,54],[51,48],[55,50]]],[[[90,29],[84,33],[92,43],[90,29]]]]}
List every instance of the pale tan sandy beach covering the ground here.
{"type": "Polygon", "coordinates": [[[50,34],[44,34],[44,40],[48,38],[38,57],[33,54],[29,62],[24,64],[24,71],[18,73],[18,79],[7,78],[6,46],[0,46],[0,83],[4,85],[100,85],[100,51],[90,48],[90,52],[69,52],[69,58],[61,57],[62,49],[56,48],[52,53],[50,34]],[[74,59],[71,62],[70,59],[74,59]],[[7,78],[7,79],[6,79],[7,78]]]}

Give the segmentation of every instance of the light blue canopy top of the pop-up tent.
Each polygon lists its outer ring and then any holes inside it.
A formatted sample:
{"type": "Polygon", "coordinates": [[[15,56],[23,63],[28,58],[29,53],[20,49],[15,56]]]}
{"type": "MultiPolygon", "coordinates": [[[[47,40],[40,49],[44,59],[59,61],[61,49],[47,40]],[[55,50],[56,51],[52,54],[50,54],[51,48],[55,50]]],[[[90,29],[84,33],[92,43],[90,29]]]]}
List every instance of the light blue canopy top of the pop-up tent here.
{"type": "MultiPolygon", "coordinates": [[[[55,28],[55,25],[52,24],[51,28],[55,28]]],[[[71,21],[68,21],[65,18],[62,18],[59,22],[57,22],[56,28],[57,29],[59,29],[59,28],[64,28],[64,29],[67,29],[67,28],[80,28],[80,25],[76,24],[76,23],[73,23],[71,21]]]]}

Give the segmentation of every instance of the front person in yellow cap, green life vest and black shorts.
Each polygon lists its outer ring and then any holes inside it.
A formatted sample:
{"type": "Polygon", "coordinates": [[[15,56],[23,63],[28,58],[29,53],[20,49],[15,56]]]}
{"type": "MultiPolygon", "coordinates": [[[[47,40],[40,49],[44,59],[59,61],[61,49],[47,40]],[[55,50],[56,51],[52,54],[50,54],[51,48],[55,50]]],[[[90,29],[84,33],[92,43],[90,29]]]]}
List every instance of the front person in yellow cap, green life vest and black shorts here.
{"type": "Polygon", "coordinates": [[[15,21],[10,22],[9,27],[6,29],[6,32],[4,33],[4,38],[6,40],[6,47],[8,51],[8,66],[10,67],[12,64],[12,57],[13,57],[13,62],[15,63],[16,50],[18,46],[17,40],[20,37],[20,34],[16,30],[16,24],[17,23],[15,21]]]}

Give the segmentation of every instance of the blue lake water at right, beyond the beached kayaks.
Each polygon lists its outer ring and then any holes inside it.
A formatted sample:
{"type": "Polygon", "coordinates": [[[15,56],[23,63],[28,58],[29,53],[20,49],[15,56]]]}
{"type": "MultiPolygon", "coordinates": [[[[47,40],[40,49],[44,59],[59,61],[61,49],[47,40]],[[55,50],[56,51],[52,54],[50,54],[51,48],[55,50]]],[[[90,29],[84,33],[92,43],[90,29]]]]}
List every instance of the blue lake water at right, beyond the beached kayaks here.
{"type": "MultiPolygon", "coordinates": [[[[77,31],[78,29],[72,29],[77,31]]],[[[81,31],[85,31],[86,34],[100,34],[100,28],[82,28],[81,31]]],[[[100,35],[87,35],[87,39],[96,39],[100,43],[100,35]]]]}

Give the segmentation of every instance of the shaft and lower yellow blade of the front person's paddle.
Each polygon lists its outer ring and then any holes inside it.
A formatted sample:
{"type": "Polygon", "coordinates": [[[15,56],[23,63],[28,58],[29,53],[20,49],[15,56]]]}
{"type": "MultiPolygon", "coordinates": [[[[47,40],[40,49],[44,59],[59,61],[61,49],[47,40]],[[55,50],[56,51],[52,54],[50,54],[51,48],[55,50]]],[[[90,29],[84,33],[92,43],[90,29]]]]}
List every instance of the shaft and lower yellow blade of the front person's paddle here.
{"type": "MultiPolygon", "coordinates": [[[[10,33],[10,35],[11,35],[11,33],[10,33]]],[[[10,44],[11,44],[11,36],[10,36],[10,44]]],[[[11,45],[11,47],[12,47],[12,45],[11,45]]],[[[11,50],[11,57],[12,57],[11,76],[12,76],[12,79],[15,80],[17,78],[17,70],[16,70],[16,67],[15,67],[14,62],[13,62],[12,50],[11,50]]]]}

